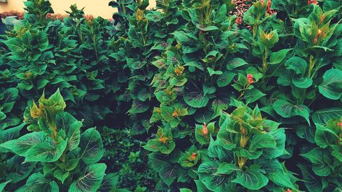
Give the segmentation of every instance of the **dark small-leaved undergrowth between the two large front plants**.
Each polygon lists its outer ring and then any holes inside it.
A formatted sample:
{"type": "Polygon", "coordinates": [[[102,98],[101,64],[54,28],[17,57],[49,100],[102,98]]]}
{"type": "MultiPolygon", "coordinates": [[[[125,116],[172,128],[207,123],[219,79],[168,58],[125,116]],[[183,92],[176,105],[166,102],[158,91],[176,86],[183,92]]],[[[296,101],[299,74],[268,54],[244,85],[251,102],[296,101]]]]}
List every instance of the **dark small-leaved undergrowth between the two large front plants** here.
{"type": "Polygon", "coordinates": [[[157,175],[146,166],[147,155],[140,146],[144,142],[135,139],[131,130],[103,127],[103,161],[112,172],[119,173],[118,186],[129,191],[153,191],[157,175]]]}

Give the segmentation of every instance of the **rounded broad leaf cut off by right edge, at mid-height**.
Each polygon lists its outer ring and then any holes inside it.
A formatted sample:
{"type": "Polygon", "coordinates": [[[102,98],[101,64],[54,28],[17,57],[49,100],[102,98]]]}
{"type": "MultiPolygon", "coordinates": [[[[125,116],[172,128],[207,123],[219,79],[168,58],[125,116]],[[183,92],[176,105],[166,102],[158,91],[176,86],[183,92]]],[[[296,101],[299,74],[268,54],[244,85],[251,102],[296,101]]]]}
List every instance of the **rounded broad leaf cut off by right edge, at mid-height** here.
{"type": "Polygon", "coordinates": [[[326,98],[338,100],[342,96],[342,71],[327,70],[323,75],[323,82],[318,86],[319,92],[326,98]]]}

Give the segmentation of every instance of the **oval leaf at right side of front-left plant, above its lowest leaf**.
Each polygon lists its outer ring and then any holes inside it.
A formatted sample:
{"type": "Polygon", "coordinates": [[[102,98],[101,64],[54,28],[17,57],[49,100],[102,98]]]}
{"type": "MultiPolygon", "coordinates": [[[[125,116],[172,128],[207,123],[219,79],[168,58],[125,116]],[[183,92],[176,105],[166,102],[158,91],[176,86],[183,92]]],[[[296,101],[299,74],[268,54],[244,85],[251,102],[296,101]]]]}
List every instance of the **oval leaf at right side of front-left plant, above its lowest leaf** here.
{"type": "Polygon", "coordinates": [[[80,158],[86,164],[99,161],[103,156],[103,143],[100,133],[95,128],[88,128],[81,134],[79,142],[80,158]]]}

